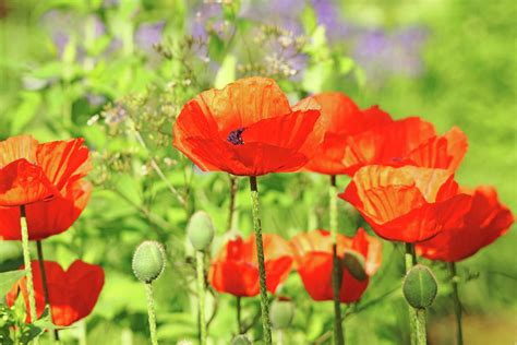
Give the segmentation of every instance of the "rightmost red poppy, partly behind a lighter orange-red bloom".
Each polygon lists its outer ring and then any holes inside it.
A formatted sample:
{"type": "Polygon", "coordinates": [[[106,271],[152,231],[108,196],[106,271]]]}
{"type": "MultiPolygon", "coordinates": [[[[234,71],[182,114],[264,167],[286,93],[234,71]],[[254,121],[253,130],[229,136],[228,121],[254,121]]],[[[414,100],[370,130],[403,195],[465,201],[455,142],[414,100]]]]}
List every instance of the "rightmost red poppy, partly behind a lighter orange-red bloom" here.
{"type": "Polygon", "coordinates": [[[472,205],[462,226],[417,245],[420,254],[431,260],[456,262],[506,234],[514,223],[514,215],[498,201],[495,189],[482,186],[469,193],[473,194],[472,205]]]}

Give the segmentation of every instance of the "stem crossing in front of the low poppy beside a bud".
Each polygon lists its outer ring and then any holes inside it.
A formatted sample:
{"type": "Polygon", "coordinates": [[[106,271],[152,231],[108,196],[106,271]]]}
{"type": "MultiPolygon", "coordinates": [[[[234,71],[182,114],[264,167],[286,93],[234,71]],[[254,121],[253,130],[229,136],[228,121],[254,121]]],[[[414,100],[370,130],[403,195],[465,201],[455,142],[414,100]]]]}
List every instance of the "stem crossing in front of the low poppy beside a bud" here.
{"type": "Polygon", "coordinates": [[[339,270],[339,259],[337,257],[337,188],[336,176],[330,176],[330,188],[328,192],[329,210],[330,210],[330,234],[332,234],[332,290],[334,299],[334,343],[336,345],[345,344],[344,326],[341,323],[341,301],[339,299],[339,290],[341,288],[341,277],[339,270]]]}

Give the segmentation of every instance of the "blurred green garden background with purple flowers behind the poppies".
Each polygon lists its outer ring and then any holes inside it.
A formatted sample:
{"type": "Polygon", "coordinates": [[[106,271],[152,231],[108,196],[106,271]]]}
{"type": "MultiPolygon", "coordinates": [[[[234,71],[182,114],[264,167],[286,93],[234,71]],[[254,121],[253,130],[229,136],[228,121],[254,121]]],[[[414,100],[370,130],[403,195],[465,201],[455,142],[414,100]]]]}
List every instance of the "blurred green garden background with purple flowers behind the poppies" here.
{"type": "MultiPolygon", "coordinates": [[[[227,224],[228,176],[193,167],[171,147],[170,129],[190,97],[236,78],[273,76],[292,102],[338,90],[395,118],[421,116],[440,132],[459,126],[469,152],[457,179],[495,186],[515,212],[516,17],[512,0],[0,0],[0,139],[84,136],[95,162],[88,207],[70,230],[45,241],[48,259],[67,266],[82,258],[106,270],[98,305],[61,332],[65,344],[148,343],[144,288],[131,272],[144,239],[168,249],[156,283],[160,341],[196,342],[188,217],[195,210],[214,217],[215,252],[228,234],[252,231],[251,204],[239,180],[236,218],[227,224]]],[[[306,172],[261,178],[264,230],[290,238],[325,228],[327,183],[306,172]]],[[[340,189],[346,183],[338,179],[340,189]]],[[[340,231],[353,235],[353,213],[339,206],[340,231]]],[[[466,344],[517,342],[516,240],[514,228],[458,265],[466,344]]],[[[347,309],[349,344],[408,343],[401,255],[384,243],[382,269],[363,300],[347,309]]],[[[0,271],[21,261],[19,243],[0,241],[0,271]]],[[[438,263],[433,270],[441,285],[430,343],[453,344],[447,271],[438,263]]],[[[296,273],[279,293],[298,308],[288,343],[328,343],[332,304],[312,302],[296,273]]],[[[216,310],[212,341],[228,344],[235,298],[208,304],[208,314],[216,310]]],[[[244,318],[260,309],[256,298],[243,306],[244,318]]],[[[251,332],[258,337],[260,323],[251,332]]]]}

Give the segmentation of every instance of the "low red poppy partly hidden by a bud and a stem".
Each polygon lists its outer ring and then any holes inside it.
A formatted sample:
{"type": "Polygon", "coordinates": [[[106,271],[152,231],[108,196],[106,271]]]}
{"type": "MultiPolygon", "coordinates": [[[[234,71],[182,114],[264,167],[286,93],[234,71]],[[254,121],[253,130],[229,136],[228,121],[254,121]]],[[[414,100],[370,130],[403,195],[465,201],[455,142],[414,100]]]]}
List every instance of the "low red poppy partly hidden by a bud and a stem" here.
{"type": "MultiPolygon", "coordinates": [[[[303,286],[314,300],[333,300],[333,241],[327,230],[312,230],[294,236],[291,241],[298,273],[303,286]]],[[[366,277],[356,277],[345,265],[342,270],[339,299],[342,304],[357,301],[368,287],[369,277],[381,265],[381,242],[359,228],[356,237],[337,235],[337,255],[344,260],[348,251],[364,259],[366,277]]]]}

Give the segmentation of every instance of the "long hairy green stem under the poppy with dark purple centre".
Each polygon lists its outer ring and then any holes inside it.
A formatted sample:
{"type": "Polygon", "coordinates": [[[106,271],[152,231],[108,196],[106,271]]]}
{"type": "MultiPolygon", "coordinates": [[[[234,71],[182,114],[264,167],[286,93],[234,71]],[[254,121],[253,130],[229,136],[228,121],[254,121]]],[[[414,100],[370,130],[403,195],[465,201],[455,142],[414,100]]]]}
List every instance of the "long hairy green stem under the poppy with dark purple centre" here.
{"type": "Polygon", "coordinates": [[[262,243],[262,224],[258,209],[258,189],[256,188],[256,176],[250,176],[251,201],[253,204],[253,227],[255,229],[256,257],[258,261],[258,282],[261,287],[262,325],[264,329],[264,344],[273,343],[269,322],[269,305],[266,289],[266,269],[264,264],[264,246],[262,243]]]}

